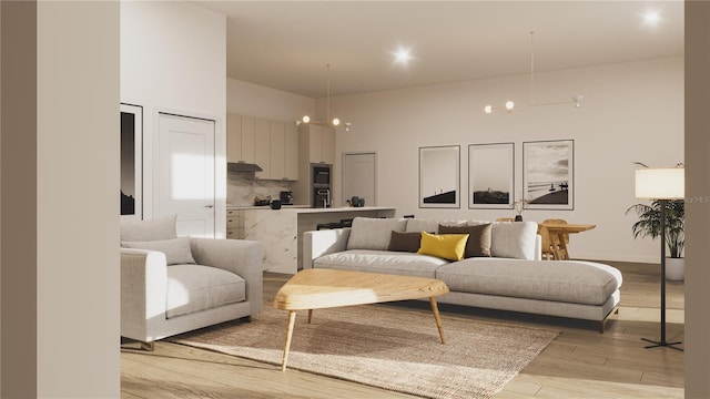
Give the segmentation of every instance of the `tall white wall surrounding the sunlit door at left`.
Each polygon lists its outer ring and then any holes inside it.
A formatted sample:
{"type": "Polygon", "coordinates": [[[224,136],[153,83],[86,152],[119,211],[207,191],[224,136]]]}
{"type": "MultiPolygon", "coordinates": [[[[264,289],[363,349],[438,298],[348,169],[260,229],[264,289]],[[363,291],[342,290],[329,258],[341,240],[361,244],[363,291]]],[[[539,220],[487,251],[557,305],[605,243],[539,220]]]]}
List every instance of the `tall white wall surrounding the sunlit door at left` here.
{"type": "MultiPolygon", "coordinates": [[[[226,158],[226,17],[185,1],[121,2],[121,102],[143,106],[143,212],[156,214],[158,113],[216,121],[226,158]]],[[[215,231],[225,234],[226,171],[215,171],[215,231]]]]}

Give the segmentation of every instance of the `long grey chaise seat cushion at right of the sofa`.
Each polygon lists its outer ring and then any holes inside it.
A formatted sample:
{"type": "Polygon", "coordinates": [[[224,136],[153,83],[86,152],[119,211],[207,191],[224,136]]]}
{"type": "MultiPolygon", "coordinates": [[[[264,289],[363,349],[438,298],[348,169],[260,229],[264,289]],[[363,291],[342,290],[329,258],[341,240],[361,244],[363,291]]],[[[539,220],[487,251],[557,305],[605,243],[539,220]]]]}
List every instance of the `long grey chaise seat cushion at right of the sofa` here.
{"type": "Polygon", "coordinates": [[[621,286],[611,266],[581,260],[469,258],[439,267],[452,291],[601,305],[621,286]]]}

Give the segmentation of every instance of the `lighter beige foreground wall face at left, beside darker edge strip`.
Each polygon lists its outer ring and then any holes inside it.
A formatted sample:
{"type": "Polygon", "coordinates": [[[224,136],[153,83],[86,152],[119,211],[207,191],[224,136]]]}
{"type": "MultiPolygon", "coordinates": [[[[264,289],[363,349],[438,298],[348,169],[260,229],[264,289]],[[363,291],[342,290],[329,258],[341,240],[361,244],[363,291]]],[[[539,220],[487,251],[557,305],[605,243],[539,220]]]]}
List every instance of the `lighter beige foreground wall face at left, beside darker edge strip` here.
{"type": "Polygon", "coordinates": [[[37,21],[37,397],[118,398],[119,2],[37,21]]]}

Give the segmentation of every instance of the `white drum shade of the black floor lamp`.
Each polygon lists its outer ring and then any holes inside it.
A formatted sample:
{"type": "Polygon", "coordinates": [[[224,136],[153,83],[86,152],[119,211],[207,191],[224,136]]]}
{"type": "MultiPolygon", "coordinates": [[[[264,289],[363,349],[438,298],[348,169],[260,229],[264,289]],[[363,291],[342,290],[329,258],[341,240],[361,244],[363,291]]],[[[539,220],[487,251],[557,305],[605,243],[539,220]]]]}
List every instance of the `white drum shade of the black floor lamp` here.
{"type": "Polygon", "coordinates": [[[636,197],[642,200],[680,200],[686,196],[686,170],[649,167],[636,170],[636,197]]]}

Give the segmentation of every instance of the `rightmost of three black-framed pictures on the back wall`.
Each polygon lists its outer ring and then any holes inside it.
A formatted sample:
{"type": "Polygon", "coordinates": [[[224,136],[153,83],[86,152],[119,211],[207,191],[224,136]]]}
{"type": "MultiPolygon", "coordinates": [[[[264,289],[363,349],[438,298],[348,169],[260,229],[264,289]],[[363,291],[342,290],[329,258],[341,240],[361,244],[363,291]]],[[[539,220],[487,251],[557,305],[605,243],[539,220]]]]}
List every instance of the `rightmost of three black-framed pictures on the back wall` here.
{"type": "Polygon", "coordinates": [[[529,209],[575,208],[575,141],[523,143],[523,197],[529,209]]]}

